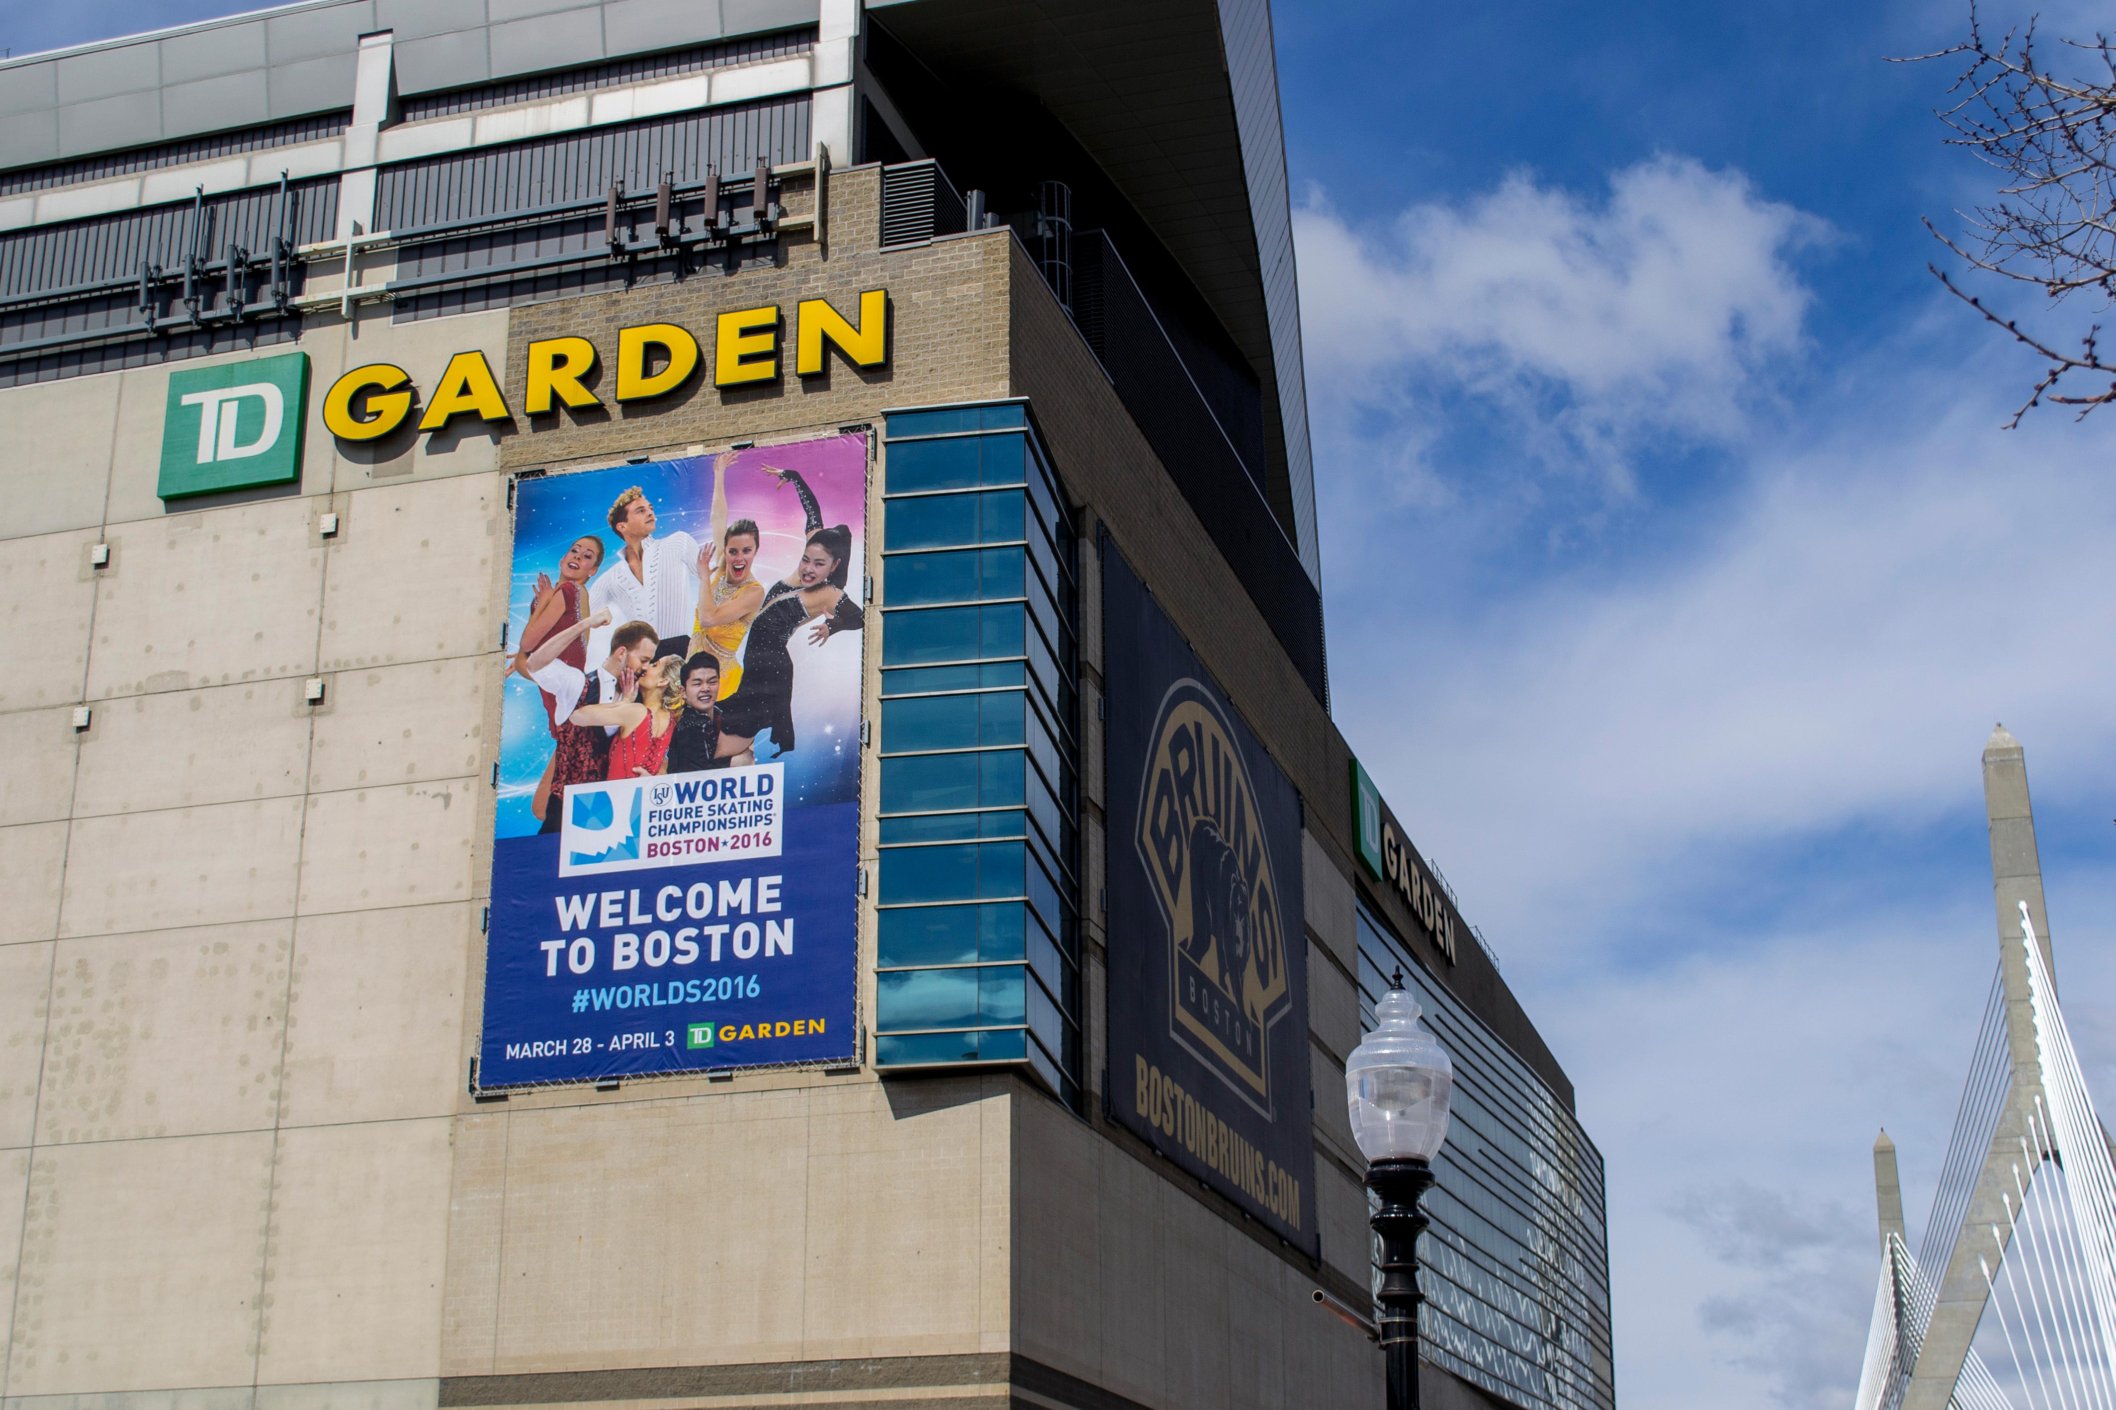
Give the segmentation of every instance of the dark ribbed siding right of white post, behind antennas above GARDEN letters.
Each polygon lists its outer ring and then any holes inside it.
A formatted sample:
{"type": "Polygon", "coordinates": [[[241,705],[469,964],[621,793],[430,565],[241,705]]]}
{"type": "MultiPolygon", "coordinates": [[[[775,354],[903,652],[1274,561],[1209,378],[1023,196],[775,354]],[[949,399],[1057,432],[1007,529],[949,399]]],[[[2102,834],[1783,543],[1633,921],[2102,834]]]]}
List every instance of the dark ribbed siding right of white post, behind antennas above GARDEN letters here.
{"type": "MultiPolygon", "coordinates": [[[[584,260],[563,268],[508,275],[506,266],[567,252],[603,249],[603,211],[576,209],[535,214],[537,207],[601,197],[612,184],[631,194],[652,192],[664,171],[675,182],[703,180],[715,167],[730,180],[736,224],[747,222],[749,182],[758,159],[770,165],[808,159],[808,95],[774,97],[741,108],[717,108],[675,118],[654,118],[595,133],[544,137],[508,148],[436,156],[387,167],[377,182],[377,228],[411,239],[398,247],[396,277],[461,275],[463,283],[400,294],[391,315],[398,321],[476,313],[542,302],[607,287],[626,287],[692,273],[736,271],[772,260],[772,245],[751,245],[741,254],[715,252],[698,268],[696,256],[639,260],[584,260]],[[493,220],[476,230],[442,230],[419,237],[421,226],[493,220]]],[[[677,216],[696,224],[700,203],[677,201],[677,216]]],[[[624,218],[631,237],[641,211],[624,218]]],[[[652,222],[652,211],[647,211],[652,222]]]]}

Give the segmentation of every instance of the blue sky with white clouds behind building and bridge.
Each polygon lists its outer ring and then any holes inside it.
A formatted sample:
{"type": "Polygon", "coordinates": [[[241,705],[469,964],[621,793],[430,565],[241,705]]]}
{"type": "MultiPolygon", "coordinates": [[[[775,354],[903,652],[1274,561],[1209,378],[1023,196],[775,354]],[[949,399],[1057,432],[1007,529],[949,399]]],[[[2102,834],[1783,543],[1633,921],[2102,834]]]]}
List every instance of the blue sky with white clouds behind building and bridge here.
{"type": "MultiPolygon", "coordinates": [[[[15,0],[0,47],[229,8],[15,0]]],[[[1866,1152],[1915,1243],[1995,964],[1995,719],[2116,1097],[2116,408],[2002,431],[2038,368],[1926,273],[1989,175],[1951,61],[1883,59],[1964,27],[1276,6],[1335,710],[1579,1084],[1625,1410],[1849,1404],[1866,1152]]]]}

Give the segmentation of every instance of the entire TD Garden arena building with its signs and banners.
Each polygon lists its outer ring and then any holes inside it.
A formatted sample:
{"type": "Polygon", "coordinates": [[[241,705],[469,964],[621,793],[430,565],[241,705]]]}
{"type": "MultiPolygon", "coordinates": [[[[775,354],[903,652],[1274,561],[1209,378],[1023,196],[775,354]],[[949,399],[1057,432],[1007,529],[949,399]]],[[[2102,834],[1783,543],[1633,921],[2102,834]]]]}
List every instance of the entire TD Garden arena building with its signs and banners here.
{"type": "Polygon", "coordinates": [[[1397,970],[1426,1404],[1615,1406],[1329,717],[1263,0],[4,61],[0,416],[6,1410],[1378,1408],[1397,970]]]}

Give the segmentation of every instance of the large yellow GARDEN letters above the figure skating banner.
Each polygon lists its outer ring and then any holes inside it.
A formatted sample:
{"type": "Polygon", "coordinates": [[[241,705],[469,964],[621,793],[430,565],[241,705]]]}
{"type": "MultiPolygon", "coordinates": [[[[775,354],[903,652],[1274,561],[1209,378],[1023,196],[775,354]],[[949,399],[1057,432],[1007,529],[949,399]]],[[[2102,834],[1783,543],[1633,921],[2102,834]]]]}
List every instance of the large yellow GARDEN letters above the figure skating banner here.
{"type": "MultiPolygon", "coordinates": [[[[713,328],[713,385],[743,387],[779,381],[783,342],[794,345],[794,372],[819,376],[825,349],[834,347],[855,368],[878,368],[889,359],[889,292],[868,290],[859,296],[859,315],[844,317],[823,298],[804,298],[794,309],[794,328],[785,336],[785,315],[779,304],[722,313],[713,328]]],[[[677,323],[639,323],[618,330],[609,349],[609,376],[597,389],[588,378],[603,368],[605,349],[588,338],[542,338],[525,353],[523,410],[531,416],[559,406],[584,410],[603,406],[597,391],[607,389],[614,402],[652,402],[679,391],[705,361],[696,334],[677,323]]],[[[411,372],[389,361],[353,368],[324,393],[324,427],[339,440],[379,440],[389,435],[413,412],[411,372]]],[[[499,378],[480,351],[457,353],[425,397],[419,416],[421,431],[440,431],[457,416],[478,421],[512,421],[514,412],[499,391],[499,378]]]]}

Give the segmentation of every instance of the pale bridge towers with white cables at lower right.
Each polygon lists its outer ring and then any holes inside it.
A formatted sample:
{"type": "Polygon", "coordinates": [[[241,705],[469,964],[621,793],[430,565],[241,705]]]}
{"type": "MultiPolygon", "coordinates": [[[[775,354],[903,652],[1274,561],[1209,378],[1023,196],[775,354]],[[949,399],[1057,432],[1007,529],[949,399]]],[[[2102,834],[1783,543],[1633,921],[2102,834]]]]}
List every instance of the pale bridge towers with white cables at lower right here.
{"type": "Polygon", "coordinates": [[[1858,1410],[2116,1406],[2116,1167],[2057,1004],[2027,761],[1983,753],[1998,972],[1913,1254],[1873,1148],[1881,1275],[1858,1410]]]}

